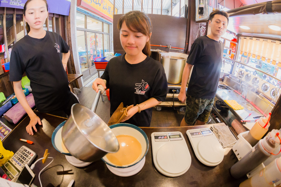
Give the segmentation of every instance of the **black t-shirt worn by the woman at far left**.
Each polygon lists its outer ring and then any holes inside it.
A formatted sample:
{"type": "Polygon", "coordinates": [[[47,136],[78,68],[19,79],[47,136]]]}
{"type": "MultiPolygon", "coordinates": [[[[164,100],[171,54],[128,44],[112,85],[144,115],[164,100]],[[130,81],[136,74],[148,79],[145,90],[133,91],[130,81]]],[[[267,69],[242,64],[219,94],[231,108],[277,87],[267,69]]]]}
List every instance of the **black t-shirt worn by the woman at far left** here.
{"type": "Polygon", "coordinates": [[[69,46],[56,32],[44,38],[26,35],[14,44],[10,59],[10,81],[20,81],[26,72],[37,110],[43,113],[61,109],[71,96],[62,53],[69,46]]]}

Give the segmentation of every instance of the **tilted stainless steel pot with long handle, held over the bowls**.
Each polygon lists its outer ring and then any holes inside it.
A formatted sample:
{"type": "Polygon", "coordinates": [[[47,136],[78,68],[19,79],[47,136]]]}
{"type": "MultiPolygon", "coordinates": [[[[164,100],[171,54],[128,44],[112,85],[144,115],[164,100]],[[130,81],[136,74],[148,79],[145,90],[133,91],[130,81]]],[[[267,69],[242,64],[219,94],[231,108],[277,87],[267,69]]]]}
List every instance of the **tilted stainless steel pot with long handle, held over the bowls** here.
{"type": "MultiPolygon", "coordinates": [[[[98,91],[92,105],[96,111],[101,91],[98,91]]],[[[62,128],[62,141],[77,159],[84,162],[94,162],[107,153],[119,150],[119,143],[109,126],[92,110],[74,104],[71,107],[71,116],[68,117],[62,128]]]]}

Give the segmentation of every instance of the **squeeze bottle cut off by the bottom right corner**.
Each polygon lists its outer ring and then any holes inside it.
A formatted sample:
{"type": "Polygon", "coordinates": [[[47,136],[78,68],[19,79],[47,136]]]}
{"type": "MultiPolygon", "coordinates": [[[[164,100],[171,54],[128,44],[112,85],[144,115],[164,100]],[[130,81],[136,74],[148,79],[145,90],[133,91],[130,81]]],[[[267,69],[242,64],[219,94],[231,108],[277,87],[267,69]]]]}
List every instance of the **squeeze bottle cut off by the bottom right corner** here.
{"type": "Polygon", "coordinates": [[[281,180],[281,157],[273,160],[263,170],[242,182],[239,187],[272,187],[281,180]]]}

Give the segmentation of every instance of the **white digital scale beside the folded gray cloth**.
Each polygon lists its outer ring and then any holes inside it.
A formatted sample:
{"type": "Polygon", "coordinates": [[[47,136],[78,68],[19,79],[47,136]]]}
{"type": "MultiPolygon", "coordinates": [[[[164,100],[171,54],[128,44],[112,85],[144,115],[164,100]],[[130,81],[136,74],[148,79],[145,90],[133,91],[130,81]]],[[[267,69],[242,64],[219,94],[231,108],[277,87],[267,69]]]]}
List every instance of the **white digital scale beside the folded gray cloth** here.
{"type": "Polygon", "coordinates": [[[207,166],[216,166],[222,162],[222,145],[209,128],[187,130],[186,134],[200,162],[207,166]]]}

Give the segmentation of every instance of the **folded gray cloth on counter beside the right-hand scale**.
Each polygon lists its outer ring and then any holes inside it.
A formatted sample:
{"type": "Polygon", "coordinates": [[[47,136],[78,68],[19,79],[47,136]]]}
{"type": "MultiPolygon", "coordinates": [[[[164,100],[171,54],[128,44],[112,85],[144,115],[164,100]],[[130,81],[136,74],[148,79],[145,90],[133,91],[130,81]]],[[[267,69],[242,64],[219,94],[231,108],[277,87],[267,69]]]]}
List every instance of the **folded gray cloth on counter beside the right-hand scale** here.
{"type": "Polygon", "coordinates": [[[237,139],[232,134],[228,126],[214,125],[214,127],[211,126],[210,129],[214,132],[223,148],[233,147],[237,142],[237,139]]]}

